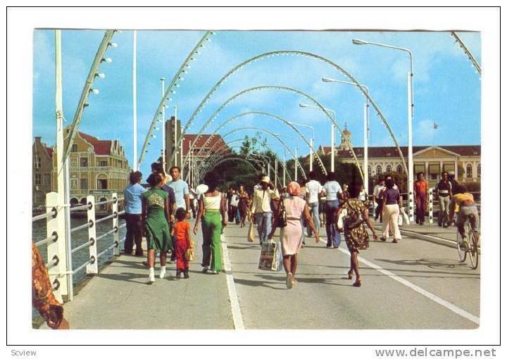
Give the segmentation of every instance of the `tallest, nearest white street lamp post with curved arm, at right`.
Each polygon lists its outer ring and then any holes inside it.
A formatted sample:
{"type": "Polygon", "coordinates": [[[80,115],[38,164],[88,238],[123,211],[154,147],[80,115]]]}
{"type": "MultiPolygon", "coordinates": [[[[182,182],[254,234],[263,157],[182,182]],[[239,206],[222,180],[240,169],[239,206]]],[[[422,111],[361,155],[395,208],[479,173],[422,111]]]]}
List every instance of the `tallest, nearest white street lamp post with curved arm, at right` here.
{"type": "Polygon", "coordinates": [[[389,49],[405,51],[410,59],[410,72],[407,75],[407,98],[408,98],[408,218],[413,222],[413,151],[412,151],[412,122],[413,122],[413,59],[412,51],[404,47],[380,44],[378,42],[368,42],[361,39],[353,39],[355,45],[375,45],[387,47],[389,49]]]}

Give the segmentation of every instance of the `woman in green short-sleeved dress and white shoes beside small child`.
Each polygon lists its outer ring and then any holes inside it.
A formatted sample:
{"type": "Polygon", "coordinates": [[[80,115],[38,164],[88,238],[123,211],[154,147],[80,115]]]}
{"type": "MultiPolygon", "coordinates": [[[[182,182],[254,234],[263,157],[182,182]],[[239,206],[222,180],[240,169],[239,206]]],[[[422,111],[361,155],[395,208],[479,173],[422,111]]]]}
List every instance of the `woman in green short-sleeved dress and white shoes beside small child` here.
{"type": "Polygon", "coordinates": [[[146,243],[148,245],[149,283],[155,282],[155,251],[160,252],[160,277],[165,277],[165,260],[167,252],[173,248],[170,237],[168,221],[169,196],[162,189],[164,176],[162,173],[153,173],[146,180],[150,189],[142,193],[142,218],[146,243]]]}

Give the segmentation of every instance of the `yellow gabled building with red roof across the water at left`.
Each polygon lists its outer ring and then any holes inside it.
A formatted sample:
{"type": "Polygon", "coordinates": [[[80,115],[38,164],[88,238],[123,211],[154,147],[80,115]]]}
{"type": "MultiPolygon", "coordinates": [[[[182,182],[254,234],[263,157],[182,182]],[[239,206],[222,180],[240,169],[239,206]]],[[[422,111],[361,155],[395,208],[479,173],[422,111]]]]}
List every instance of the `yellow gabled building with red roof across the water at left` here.
{"type": "MultiPolygon", "coordinates": [[[[70,127],[65,129],[65,146],[70,127]]],[[[69,155],[70,203],[86,203],[89,194],[104,201],[109,194],[123,193],[130,167],[118,139],[101,140],[83,132],[75,136],[69,155]]],[[[53,156],[53,191],[57,190],[56,156],[53,156]]]]}

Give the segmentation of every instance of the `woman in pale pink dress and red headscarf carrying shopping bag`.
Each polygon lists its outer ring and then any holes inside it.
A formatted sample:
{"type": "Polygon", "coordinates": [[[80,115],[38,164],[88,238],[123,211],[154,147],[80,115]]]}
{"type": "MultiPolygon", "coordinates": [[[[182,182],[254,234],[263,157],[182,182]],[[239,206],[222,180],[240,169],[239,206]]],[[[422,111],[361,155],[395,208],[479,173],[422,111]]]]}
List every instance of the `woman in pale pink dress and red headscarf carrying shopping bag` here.
{"type": "MultiPolygon", "coordinates": [[[[282,256],[283,265],[285,272],[287,272],[287,288],[291,289],[296,281],[296,269],[297,269],[297,253],[301,248],[301,239],[303,236],[303,228],[301,227],[301,218],[306,220],[306,223],[310,226],[310,229],[315,234],[315,242],[318,243],[319,237],[315,225],[313,225],[313,219],[308,209],[308,204],[304,199],[299,197],[301,187],[297,182],[290,182],[287,186],[287,192],[289,197],[282,199],[283,206],[278,206],[275,212],[275,218],[278,218],[280,210],[284,207],[285,213],[287,214],[287,226],[282,227],[280,230],[280,242],[282,243],[282,256]]],[[[277,220],[273,224],[269,239],[273,238],[275,229],[277,227],[277,220]]]]}

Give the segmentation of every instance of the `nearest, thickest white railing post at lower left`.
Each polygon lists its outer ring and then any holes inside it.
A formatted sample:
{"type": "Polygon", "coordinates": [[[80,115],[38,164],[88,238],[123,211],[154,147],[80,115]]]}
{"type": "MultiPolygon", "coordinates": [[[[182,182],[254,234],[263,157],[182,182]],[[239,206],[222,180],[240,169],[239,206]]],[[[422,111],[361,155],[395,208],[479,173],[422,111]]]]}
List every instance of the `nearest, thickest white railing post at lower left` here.
{"type": "Polygon", "coordinates": [[[60,206],[58,208],[58,194],[49,192],[46,194],[46,213],[56,210],[56,215],[47,218],[46,232],[47,237],[56,235],[56,240],[49,241],[47,244],[47,257],[50,263],[48,268],[51,284],[56,284],[54,295],[56,300],[63,303],[62,296],[68,296],[67,286],[67,251],[65,248],[65,212],[60,206]],[[51,265],[56,260],[56,265],[51,265]]]}

